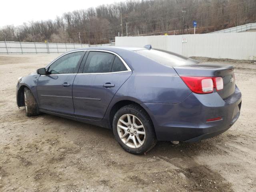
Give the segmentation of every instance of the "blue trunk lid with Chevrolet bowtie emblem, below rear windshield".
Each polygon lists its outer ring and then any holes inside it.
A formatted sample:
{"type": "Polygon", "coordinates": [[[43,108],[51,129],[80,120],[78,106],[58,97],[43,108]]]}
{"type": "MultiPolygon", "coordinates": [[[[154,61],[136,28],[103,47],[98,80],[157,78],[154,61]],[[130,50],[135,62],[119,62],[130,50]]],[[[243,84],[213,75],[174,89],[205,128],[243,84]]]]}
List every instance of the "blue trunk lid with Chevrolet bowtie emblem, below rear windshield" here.
{"type": "Polygon", "coordinates": [[[218,91],[222,99],[226,99],[235,92],[236,83],[234,67],[224,64],[197,63],[186,66],[173,67],[179,76],[222,77],[223,89],[218,91]]]}

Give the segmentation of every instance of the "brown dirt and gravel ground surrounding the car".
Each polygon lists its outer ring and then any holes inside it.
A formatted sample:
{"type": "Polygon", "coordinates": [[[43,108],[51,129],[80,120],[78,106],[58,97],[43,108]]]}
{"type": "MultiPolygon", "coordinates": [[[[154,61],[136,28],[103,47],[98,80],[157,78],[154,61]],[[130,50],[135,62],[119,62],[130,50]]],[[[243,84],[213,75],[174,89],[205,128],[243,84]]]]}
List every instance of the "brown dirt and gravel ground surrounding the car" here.
{"type": "Polygon", "coordinates": [[[57,56],[0,55],[0,191],[256,191],[256,64],[219,61],[235,66],[243,97],[228,131],[136,156],[105,128],[18,109],[18,77],[57,56]]]}

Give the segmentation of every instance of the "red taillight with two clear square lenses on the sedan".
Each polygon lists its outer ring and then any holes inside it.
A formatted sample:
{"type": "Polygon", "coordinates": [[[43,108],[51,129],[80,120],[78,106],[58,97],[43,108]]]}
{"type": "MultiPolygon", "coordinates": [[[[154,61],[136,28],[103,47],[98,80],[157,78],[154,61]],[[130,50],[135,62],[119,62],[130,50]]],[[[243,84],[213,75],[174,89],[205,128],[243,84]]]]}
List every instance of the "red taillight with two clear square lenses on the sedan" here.
{"type": "Polygon", "coordinates": [[[212,93],[213,89],[217,91],[223,89],[222,77],[187,77],[182,76],[182,80],[186,83],[188,88],[194,93],[206,94],[212,93]]]}

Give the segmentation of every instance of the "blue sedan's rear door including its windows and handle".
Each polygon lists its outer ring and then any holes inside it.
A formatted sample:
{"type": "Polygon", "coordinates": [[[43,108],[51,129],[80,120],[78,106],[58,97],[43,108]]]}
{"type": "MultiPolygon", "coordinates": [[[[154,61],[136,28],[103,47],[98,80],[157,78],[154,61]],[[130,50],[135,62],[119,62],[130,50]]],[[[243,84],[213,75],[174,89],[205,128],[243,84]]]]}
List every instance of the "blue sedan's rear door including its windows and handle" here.
{"type": "Polygon", "coordinates": [[[101,120],[117,90],[132,71],[113,52],[90,50],[73,83],[74,114],[101,120]]]}

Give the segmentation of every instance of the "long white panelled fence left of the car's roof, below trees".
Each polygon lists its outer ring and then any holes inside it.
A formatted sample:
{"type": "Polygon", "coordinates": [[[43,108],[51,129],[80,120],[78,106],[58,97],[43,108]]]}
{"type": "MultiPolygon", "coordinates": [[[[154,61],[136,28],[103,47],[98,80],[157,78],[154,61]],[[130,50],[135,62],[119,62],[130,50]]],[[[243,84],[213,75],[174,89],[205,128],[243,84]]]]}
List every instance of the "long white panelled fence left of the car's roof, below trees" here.
{"type": "Polygon", "coordinates": [[[64,53],[73,49],[89,47],[89,44],[31,43],[0,41],[0,54],[50,54],[64,53]]]}

